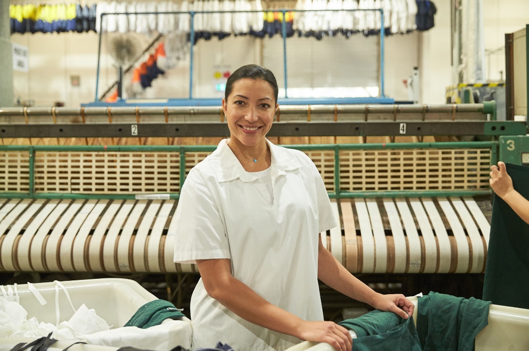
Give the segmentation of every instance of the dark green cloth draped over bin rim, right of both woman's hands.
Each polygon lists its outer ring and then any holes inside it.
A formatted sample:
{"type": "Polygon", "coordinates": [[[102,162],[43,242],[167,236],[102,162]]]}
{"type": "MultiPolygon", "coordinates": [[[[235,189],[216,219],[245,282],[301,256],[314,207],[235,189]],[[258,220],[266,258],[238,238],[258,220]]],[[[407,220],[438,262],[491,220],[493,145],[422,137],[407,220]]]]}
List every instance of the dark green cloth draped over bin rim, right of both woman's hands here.
{"type": "Polygon", "coordinates": [[[473,350],[488,325],[490,301],[430,292],[418,298],[417,334],[424,351],[473,350]]]}

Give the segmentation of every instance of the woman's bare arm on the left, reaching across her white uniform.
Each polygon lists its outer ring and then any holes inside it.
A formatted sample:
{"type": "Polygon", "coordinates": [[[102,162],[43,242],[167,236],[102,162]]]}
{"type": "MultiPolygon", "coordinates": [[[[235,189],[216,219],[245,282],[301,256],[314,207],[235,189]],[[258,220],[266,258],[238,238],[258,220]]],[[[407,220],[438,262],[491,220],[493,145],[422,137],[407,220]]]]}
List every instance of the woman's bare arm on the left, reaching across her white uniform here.
{"type": "Polygon", "coordinates": [[[230,260],[197,260],[197,266],[209,296],[239,317],[302,340],[329,343],[337,350],[351,350],[352,339],[345,328],[329,321],[305,321],[271,304],[233,277],[230,260]]]}

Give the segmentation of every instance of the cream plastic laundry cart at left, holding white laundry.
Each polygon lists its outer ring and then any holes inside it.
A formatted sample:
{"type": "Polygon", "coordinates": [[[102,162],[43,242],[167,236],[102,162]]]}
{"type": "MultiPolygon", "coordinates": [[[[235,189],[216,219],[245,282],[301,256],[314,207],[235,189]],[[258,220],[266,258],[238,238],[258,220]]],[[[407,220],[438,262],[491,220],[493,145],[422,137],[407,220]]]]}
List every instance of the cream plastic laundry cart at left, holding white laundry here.
{"type": "MultiPolygon", "coordinates": [[[[81,335],[75,340],[58,339],[53,347],[66,347],[71,341],[86,341],[89,345],[74,345],[69,350],[108,351],[124,346],[132,346],[157,351],[167,351],[176,346],[190,349],[191,321],[187,317],[180,320],[167,319],[160,325],[141,329],[123,327],[138,309],[157,297],[145,290],[138,282],[129,279],[87,279],[36,284],[18,284],[1,287],[5,298],[19,300],[28,312],[27,319],[34,317],[39,322],[57,325],[68,321],[84,304],[95,311],[110,326],[102,330],[81,335]],[[101,347],[95,347],[101,346],[101,347]],[[106,347],[104,347],[106,346],[106,347]]],[[[31,341],[35,337],[0,338],[0,351],[22,340],[31,341]]]]}

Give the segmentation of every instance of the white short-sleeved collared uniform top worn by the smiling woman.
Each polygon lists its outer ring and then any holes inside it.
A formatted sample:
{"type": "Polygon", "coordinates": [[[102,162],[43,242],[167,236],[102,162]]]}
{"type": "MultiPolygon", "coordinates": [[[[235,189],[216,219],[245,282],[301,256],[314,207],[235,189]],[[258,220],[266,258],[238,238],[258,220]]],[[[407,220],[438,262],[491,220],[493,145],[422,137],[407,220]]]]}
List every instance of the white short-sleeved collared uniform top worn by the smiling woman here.
{"type": "MultiPolygon", "coordinates": [[[[336,224],[320,173],[303,152],[270,145],[273,197],[221,141],[190,172],[176,210],[175,262],[230,258],[232,274],[272,304],[323,320],[317,281],[318,233],[336,224]]],[[[261,172],[259,172],[261,173],[261,172]]],[[[191,297],[193,349],[218,341],[235,350],[284,350],[299,339],[236,316],[209,297],[191,297]]]]}

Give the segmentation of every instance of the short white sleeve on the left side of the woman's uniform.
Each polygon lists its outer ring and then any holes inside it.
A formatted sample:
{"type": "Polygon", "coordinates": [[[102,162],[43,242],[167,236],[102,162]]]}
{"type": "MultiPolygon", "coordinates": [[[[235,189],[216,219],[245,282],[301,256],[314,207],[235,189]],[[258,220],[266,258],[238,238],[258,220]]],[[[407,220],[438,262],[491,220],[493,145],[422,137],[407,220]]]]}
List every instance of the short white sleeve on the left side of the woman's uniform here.
{"type": "Polygon", "coordinates": [[[180,192],[173,233],[175,263],[231,258],[224,220],[216,196],[199,172],[191,170],[180,192]]]}

